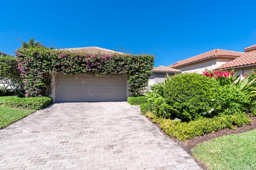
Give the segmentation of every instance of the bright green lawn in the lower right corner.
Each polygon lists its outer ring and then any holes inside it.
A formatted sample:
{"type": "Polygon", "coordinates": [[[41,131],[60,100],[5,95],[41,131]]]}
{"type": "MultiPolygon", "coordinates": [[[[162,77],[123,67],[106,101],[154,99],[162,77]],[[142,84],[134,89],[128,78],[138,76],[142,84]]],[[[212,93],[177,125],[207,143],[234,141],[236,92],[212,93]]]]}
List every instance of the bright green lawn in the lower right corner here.
{"type": "Polygon", "coordinates": [[[209,170],[256,170],[256,129],[212,139],[191,151],[209,170]]]}

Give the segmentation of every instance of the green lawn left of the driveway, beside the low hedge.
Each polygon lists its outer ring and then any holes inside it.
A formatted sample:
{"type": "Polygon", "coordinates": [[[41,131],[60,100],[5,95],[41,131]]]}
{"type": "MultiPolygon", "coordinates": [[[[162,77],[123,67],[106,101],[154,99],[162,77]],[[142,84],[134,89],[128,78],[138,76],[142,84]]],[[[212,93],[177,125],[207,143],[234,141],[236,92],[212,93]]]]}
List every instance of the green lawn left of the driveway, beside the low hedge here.
{"type": "MultiPolygon", "coordinates": [[[[8,97],[10,96],[0,97],[0,104],[2,104],[4,99],[8,97]]],[[[0,106],[0,129],[7,127],[11,123],[18,121],[34,112],[35,110],[20,110],[0,106]]]]}

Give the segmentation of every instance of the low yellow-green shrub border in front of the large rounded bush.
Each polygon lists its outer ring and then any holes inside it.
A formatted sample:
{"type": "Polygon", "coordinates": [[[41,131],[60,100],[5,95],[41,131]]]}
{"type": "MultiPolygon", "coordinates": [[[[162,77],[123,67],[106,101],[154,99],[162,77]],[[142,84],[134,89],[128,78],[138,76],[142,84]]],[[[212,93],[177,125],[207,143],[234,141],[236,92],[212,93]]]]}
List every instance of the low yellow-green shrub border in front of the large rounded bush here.
{"type": "Polygon", "coordinates": [[[235,129],[236,126],[249,124],[251,119],[247,118],[247,114],[233,114],[214,116],[212,118],[200,118],[190,122],[180,122],[171,119],[161,119],[160,128],[166,133],[180,141],[190,139],[196,136],[204,135],[206,133],[213,133],[219,129],[235,129]]]}

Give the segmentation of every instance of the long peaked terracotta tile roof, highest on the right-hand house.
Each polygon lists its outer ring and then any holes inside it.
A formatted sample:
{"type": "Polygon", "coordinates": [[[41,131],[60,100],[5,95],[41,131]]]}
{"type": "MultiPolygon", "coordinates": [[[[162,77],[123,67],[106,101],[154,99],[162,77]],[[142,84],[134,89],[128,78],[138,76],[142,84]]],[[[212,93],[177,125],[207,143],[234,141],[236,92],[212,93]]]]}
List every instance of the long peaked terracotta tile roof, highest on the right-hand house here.
{"type": "Polygon", "coordinates": [[[182,66],[182,65],[185,65],[185,64],[193,63],[193,62],[200,61],[200,60],[203,60],[203,59],[208,59],[208,58],[213,57],[213,56],[223,56],[223,57],[237,58],[241,55],[241,53],[242,52],[238,52],[238,51],[214,49],[212,51],[208,51],[206,53],[202,53],[200,55],[196,55],[194,57],[190,57],[188,59],[178,61],[177,63],[171,64],[168,67],[176,68],[178,66],[182,66]]]}

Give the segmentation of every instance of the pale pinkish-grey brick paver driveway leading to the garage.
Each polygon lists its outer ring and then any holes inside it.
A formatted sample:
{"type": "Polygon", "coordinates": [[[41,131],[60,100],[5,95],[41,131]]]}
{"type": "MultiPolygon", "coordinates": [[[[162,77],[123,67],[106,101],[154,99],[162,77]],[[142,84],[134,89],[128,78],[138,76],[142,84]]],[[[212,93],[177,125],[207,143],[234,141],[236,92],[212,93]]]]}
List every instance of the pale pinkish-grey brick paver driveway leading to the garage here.
{"type": "Polygon", "coordinates": [[[56,103],[0,130],[0,169],[200,169],[139,106],[56,103]]]}

